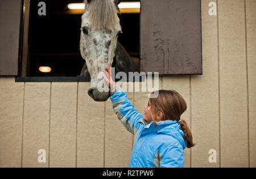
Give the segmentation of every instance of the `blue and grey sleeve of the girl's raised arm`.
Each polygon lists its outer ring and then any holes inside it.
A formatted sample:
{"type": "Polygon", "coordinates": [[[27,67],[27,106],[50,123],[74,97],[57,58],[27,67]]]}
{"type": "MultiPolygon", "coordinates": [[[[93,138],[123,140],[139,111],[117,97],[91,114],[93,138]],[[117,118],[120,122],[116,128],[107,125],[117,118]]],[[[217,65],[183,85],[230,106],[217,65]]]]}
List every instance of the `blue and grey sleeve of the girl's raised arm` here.
{"type": "Polygon", "coordinates": [[[115,87],[114,93],[110,96],[113,110],[126,129],[130,133],[135,134],[139,126],[144,125],[144,123],[140,122],[143,120],[143,116],[131,104],[126,92],[117,85],[115,87]]]}

